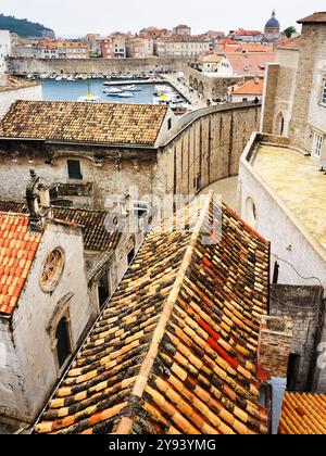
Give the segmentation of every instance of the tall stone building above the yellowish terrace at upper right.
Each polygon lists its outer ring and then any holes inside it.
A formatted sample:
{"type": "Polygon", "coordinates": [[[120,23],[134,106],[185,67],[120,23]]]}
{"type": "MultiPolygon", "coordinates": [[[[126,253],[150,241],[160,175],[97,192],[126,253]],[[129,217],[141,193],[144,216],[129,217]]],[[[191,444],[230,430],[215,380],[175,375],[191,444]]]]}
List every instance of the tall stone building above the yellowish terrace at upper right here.
{"type": "Polygon", "coordinates": [[[268,65],[261,129],[284,135],[326,164],[326,13],[299,21],[302,35],[268,65]]]}

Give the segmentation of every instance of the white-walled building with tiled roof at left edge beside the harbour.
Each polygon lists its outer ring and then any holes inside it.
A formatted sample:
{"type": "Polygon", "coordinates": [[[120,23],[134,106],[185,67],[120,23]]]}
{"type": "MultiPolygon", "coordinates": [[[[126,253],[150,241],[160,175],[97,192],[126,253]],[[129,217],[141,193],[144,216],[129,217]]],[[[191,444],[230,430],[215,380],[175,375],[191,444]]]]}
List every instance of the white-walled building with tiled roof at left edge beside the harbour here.
{"type": "Polygon", "coordinates": [[[34,80],[0,75],[0,118],[16,100],[41,100],[41,85],[34,80]]]}

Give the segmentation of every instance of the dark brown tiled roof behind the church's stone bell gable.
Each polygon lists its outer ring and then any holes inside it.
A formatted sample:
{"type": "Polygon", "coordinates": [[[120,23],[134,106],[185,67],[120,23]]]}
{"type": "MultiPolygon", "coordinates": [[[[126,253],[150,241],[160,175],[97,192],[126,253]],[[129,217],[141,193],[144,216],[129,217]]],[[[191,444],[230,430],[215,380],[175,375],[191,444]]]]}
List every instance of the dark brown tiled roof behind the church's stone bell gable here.
{"type": "MultiPolygon", "coordinates": [[[[0,211],[27,213],[27,205],[0,200],[0,211]]],[[[54,218],[82,225],[84,245],[86,250],[104,252],[114,251],[121,240],[122,221],[116,214],[106,211],[88,211],[73,207],[53,207],[54,218]],[[116,225],[117,224],[117,225],[116,225]]]]}

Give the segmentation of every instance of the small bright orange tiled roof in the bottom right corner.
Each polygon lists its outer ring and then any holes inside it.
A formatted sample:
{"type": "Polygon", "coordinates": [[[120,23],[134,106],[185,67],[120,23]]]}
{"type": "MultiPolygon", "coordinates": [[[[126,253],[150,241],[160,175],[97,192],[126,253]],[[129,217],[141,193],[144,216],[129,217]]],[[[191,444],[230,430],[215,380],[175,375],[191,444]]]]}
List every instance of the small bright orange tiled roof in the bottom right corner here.
{"type": "Polygon", "coordinates": [[[281,434],[326,434],[326,394],[286,393],[281,434]]]}

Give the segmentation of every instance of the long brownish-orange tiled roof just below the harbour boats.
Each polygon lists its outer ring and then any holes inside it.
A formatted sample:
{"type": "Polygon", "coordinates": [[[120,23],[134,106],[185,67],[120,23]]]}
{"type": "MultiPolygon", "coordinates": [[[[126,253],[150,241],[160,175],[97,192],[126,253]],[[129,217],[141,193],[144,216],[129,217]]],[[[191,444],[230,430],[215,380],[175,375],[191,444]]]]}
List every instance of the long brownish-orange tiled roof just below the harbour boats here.
{"type": "Polygon", "coordinates": [[[0,122],[0,137],[153,145],[166,113],[150,104],[16,101],[0,122]]]}

